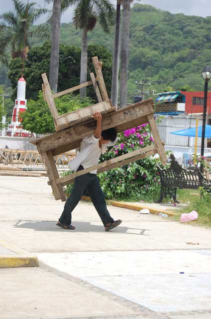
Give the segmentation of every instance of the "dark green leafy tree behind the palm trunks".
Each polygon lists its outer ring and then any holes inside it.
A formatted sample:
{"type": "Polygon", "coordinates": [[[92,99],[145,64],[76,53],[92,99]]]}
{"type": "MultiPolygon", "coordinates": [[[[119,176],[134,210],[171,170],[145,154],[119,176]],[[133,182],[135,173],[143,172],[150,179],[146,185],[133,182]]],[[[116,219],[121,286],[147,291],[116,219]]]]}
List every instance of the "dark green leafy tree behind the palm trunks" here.
{"type": "MultiPolygon", "coordinates": [[[[49,75],[50,50],[50,43],[46,42],[42,46],[31,48],[28,52],[24,68],[27,99],[37,99],[38,92],[42,89],[41,74],[45,72],[47,76],[49,75]]],[[[100,45],[88,46],[88,68],[90,72],[94,72],[92,57],[95,55],[103,61],[103,73],[106,88],[108,90],[108,94],[110,94],[112,73],[111,54],[100,45]]],[[[58,91],[66,90],[79,84],[80,56],[80,48],[69,45],[60,45],[58,91]]],[[[11,60],[8,76],[11,80],[11,86],[13,89],[12,99],[16,98],[17,81],[21,76],[21,68],[22,61],[20,58],[11,60]]],[[[96,98],[95,91],[92,86],[88,89],[88,95],[92,99],[96,98]]]]}

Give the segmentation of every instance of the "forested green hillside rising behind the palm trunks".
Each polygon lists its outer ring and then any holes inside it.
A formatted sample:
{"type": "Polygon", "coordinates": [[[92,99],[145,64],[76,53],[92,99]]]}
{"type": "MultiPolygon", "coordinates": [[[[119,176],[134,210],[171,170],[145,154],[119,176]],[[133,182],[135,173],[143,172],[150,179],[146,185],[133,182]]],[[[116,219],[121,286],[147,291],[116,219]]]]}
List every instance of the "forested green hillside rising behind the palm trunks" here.
{"type": "MultiPolygon", "coordinates": [[[[89,44],[100,44],[112,52],[114,28],[103,33],[99,25],[89,32],[89,44]]],[[[81,45],[81,31],[63,23],[61,43],[81,45]]],[[[40,41],[33,40],[33,45],[40,41]]],[[[128,97],[133,98],[135,81],[156,93],[165,89],[203,90],[201,70],[211,62],[211,16],[172,14],[136,3],[131,9],[128,97]],[[151,86],[149,85],[151,83],[151,86]]],[[[145,97],[147,97],[145,95],[145,97]]]]}

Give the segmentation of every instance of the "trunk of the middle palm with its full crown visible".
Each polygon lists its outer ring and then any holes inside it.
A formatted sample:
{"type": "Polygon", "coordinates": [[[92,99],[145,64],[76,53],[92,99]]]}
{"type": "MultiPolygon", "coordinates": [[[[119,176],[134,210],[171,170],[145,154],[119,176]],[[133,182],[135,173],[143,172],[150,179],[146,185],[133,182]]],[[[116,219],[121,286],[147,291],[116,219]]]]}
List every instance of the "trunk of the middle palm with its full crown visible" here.
{"type": "MultiPolygon", "coordinates": [[[[81,76],[80,76],[80,84],[87,82],[87,63],[88,63],[88,53],[87,53],[87,29],[83,29],[82,35],[82,45],[81,45],[81,76]]],[[[80,89],[80,99],[84,98],[87,94],[87,88],[80,89]]]]}

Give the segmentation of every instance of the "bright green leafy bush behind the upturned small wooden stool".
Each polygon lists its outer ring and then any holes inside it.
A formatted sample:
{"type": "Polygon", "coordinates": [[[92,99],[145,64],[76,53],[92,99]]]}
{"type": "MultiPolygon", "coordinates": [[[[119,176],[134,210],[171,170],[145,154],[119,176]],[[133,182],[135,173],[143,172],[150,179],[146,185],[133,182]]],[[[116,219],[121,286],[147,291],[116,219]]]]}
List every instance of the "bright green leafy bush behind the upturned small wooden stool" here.
{"type": "MultiPolygon", "coordinates": [[[[55,102],[59,114],[76,111],[92,104],[89,98],[80,100],[79,96],[72,97],[70,94],[55,99],[55,102]]],[[[38,134],[55,132],[52,115],[41,91],[36,101],[28,100],[27,110],[22,117],[25,130],[38,134]]]]}

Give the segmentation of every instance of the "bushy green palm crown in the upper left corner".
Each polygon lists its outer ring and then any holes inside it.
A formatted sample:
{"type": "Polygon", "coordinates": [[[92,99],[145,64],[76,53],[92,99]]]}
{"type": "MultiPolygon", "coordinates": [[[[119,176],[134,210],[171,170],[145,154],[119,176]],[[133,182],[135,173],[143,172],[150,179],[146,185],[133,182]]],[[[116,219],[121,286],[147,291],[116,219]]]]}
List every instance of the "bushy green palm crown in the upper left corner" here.
{"type": "Polygon", "coordinates": [[[29,48],[28,37],[49,34],[48,25],[33,25],[47,9],[35,8],[36,2],[25,4],[12,0],[12,3],[14,12],[10,10],[0,15],[0,60],[5,64],[8,64],[8,48],[12,58],[24,57],[29,48]]]}

